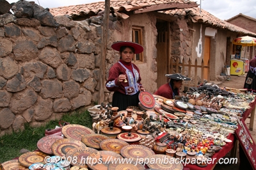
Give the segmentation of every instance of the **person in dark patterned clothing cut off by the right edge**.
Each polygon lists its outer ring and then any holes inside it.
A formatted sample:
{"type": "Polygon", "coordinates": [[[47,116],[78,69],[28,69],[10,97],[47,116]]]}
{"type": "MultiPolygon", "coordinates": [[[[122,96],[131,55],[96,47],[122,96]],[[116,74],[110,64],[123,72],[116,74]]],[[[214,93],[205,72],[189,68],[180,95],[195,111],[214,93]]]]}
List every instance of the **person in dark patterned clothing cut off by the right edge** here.
{"type": "Polygon", "coordinates": [[[244,82],[244,88],[248,89],[248,91],[256,92],[256,56],[250,60],[250,70],[246,75],[246,79],[244,82]]]}

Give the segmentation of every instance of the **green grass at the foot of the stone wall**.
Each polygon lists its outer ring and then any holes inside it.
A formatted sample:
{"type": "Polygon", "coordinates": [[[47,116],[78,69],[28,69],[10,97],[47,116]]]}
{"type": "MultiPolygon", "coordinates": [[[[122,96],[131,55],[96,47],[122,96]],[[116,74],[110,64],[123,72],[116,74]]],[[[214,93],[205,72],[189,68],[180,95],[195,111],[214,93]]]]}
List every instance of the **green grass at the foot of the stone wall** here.
{"type": "MultiPolygon", "coordinates": [[[[92,117],[87,110],[64,114],[61,120],[67,121],[70,124],[92,128],[92,117]]],[[[49,121],[49,123],[42,127],[29,127],[29,125],[26,124],[25,130],[22,132],[13,132],[13,134],[6,134],[0,137],[0,163],[22,155],[22,153],[20,153],[22,148],[29,151],[36,150],[36,144],[44,137],[45,129],[55,128],[56,125],[59,125],[59,120],[49,121]]]]}

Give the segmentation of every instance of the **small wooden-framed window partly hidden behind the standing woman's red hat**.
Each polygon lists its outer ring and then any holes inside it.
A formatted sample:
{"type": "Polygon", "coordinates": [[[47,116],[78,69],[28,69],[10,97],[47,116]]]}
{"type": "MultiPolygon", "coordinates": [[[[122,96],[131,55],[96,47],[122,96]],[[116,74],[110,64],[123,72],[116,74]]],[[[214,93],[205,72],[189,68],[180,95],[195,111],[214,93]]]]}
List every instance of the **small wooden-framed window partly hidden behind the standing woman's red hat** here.
{"type": "MultiPolygon", "coordinates": [[[[132,27],[132,42],[140,43],[143,45],[142,41],[142,27],[132,27]]],[[[143,52],[140,54],[135,54],[135,58],[133,58],[134,62],[143,61],[143,52]]]]}

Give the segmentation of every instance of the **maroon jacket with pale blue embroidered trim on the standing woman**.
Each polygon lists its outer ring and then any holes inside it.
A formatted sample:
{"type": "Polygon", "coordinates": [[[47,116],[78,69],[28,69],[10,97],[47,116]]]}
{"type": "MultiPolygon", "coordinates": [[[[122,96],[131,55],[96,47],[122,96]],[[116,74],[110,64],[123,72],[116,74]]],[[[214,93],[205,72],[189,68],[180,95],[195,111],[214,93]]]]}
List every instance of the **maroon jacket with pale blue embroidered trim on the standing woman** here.
{"type": "Polygon", "coordinates": [[[106,88],[109,91],[118,91],[125,95],[134,95],[138,93],[141,85],[140,70],[138,66],[132,63],[125,63],[121,59],[118,63],[115,63],[109,70],[108,81],[106,82],[106,88]],[[118,76],[120,74],[126,75],[127,82],[118,82],[118,76]]]}

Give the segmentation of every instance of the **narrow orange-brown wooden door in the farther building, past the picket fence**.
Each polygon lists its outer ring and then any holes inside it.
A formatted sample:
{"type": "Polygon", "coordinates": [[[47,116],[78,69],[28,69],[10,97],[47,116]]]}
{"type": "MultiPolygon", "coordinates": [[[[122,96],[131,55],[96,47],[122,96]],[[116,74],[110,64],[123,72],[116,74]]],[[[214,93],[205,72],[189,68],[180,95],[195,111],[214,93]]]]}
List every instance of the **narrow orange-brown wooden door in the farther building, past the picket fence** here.
{"type": "MultiPolygon", "coordinates": [[[[205,36],[204,39],[204,65],[207,65],[209,59],[210,59],[210,52],[211,52],[211,37],[205,36]]],[[[208,79],[207,75],[207,68],[204,68],[204,79],[208,79]]]]}

